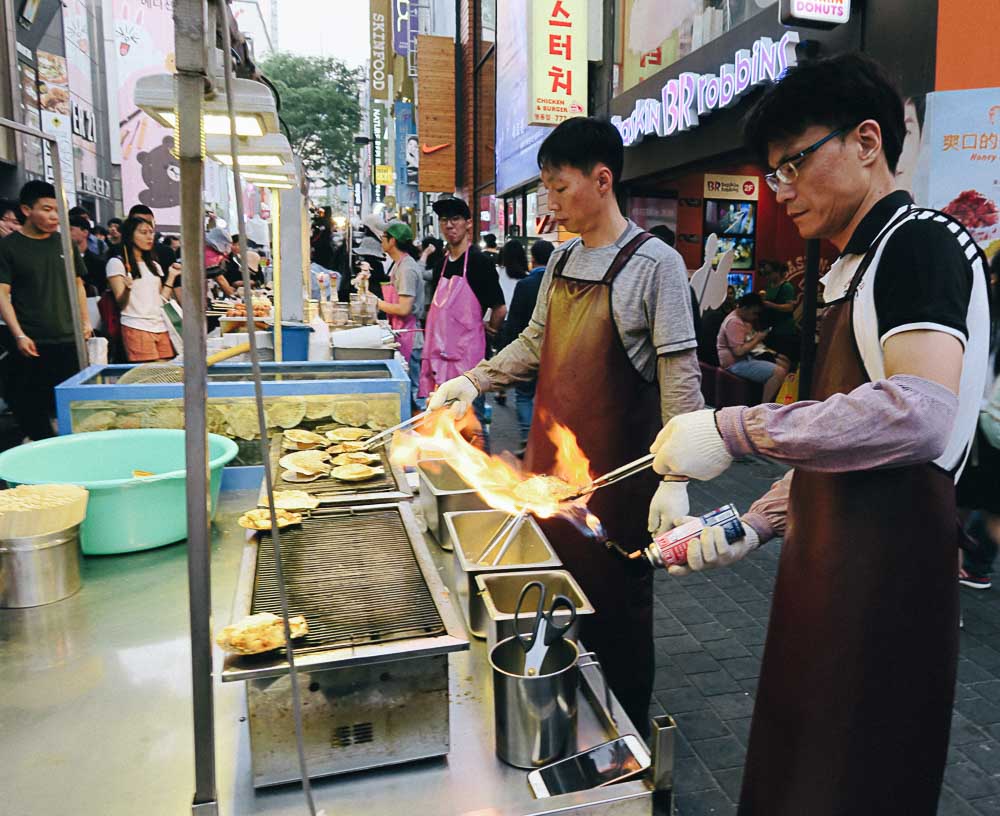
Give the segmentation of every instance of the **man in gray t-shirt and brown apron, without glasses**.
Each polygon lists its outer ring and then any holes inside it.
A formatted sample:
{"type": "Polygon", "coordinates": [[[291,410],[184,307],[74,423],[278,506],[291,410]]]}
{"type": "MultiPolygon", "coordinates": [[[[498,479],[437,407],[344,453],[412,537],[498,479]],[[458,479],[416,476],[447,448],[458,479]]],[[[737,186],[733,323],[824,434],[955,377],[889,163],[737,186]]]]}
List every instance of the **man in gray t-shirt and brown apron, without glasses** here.
{"type": "MultiPolygon", "coordinates": [[[[553,253],[521,335],[428,402],[436,409],[455,400],[452,410],[464,414],[481,392],[537,375],[531,472],[578,478],[565,467],[557,426],[573,433],[598,476],[647,454],[659,422],[704,404],[687,272],[675,250],[619,210],[623,161],[621,136],[608,122],[579,117],[549,134],[538,153],[548,205],[580,238],[553,253]]],[[[687,482],[647,472],[594,493],[588,510],[620,548],[638,550],[688,513],[687,482]]],[[[655,665],[648,569],[565,519],[539,523],[597,610],[581,623],[583,642],[646,733],[655,665]]]]}

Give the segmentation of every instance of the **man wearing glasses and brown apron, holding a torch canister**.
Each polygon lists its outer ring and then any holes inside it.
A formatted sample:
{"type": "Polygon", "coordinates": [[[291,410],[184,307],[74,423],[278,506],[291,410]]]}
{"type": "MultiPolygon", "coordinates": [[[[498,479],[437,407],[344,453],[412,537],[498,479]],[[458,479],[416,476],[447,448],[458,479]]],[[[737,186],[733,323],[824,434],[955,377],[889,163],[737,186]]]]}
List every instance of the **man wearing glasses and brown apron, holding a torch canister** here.
{"type": "Polygon", "coordinates": [[[746,138],[803,238],[841,255],[823,279],[812,397],[677,417],[660,472],[711,479],[734,457],[792,466],[675,574],[784,535],[739,813],[936,813],[957,666],[956,478],[989,353],[981,252],[896,190],[903,102],[874,62],[800,65],[746,138]]]}

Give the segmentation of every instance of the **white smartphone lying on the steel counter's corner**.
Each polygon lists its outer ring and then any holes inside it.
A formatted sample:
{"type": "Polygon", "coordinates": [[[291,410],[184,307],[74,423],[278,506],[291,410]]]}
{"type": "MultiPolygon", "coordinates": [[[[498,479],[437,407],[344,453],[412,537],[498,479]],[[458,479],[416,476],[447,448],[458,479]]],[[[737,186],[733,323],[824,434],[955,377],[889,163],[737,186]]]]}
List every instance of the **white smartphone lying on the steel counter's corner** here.
{"type": "Polygon", "coordinates": [[[635,734],[626,734],[531,771],[528,784],[538,798],[558,796],[622,782],[649,764],[646,744],[635,734]]]}

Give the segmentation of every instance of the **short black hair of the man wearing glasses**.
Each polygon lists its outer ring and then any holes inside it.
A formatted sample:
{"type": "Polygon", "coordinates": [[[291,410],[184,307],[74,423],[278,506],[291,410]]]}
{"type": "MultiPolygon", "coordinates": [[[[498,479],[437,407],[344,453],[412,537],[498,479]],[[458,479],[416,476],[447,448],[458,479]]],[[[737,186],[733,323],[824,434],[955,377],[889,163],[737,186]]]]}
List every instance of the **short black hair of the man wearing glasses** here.
{"type": "Polygon", "coordinates": [[[747,148],[768,166],[768,146],[794,139],[813,125],[831,130],[874,119],[882,130],[882,151],[896,172],[906,126],[903,98],[885,69],[860,53],[840,54],[789,68],[769,86],[743,123],[747,148]]]}

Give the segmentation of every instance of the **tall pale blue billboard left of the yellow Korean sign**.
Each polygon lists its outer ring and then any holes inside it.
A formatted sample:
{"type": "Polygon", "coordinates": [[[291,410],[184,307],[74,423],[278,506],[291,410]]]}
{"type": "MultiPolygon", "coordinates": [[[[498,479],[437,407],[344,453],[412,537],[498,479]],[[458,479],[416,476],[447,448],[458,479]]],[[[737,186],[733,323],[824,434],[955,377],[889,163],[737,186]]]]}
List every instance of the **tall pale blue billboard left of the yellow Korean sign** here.
{"type": "Polygon", "coordinates": [[[497,192],[538,175],[538,146],[547,125],[528,124],[528,0],[497,0],[497,192]]]}

